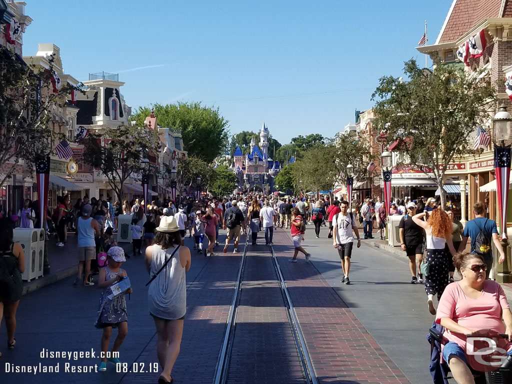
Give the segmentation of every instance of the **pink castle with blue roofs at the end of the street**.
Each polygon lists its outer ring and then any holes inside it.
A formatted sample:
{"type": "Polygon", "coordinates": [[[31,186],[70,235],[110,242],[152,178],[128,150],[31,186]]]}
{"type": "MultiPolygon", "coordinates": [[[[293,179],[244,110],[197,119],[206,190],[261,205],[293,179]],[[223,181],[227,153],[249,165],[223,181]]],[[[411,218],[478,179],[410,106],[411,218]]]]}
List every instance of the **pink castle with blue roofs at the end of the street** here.
{"type": "MultiPolygon", "coordinates": [[[[229,169],[238,177],[237,193],[269,194],[279,189],[274,183],[275,176],[280,172],[282,165],[268,156],[269,131],[265,122],[260,131],[260,143],[256,144],[254,137],[251,139],[250,151],[245,155],[240,146],[237,146],[233,154],[233,162],[229,169]]],[[[274,150],[275,153],[275,150],[274,150]]],[[[295,162],[292,157],[290,163],[295,162]]]]}

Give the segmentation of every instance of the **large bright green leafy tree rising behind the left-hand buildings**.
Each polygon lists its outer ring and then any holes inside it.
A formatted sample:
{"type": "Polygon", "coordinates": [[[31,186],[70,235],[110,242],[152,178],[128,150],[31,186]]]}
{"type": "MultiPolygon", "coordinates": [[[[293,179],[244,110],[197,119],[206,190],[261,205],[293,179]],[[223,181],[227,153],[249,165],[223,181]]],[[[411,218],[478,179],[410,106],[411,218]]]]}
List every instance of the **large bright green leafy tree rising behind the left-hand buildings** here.
{"type": "MultiPolygon", "coordinates": [[[[185,151],[211,163],[224,152],[227,140],[228,121],[219,109],[201,105],[200,102],[178,104],[155,104],[157,123],[163,127],[181,131],[185,151]]],[[[151,113],[147,107],[138,108],[131,120],[143,126],[151,113]]]]}

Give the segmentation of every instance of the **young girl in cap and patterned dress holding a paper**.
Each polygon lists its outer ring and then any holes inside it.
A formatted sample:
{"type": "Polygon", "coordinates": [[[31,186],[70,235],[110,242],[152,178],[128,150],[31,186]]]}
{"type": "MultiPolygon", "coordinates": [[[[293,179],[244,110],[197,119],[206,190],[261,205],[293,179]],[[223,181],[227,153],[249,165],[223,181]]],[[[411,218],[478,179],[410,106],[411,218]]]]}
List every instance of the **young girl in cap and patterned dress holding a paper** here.
{"type": "Polygon", "coordinates": [[[126,261],[124,258],[124,250],[121,247],[111,247],[107,253],[109,257],[108,266],[101,268],[99,271],[98,288],[103,288],[101,292],[98,315],[96,318],[96,328],[103,329],[101,336],[101,363],[100,371],[106,371],[106,362],[110,361],[114,364],[119,363],[119,359],[115,354],[111,354],[109,358],[108,350],[112,328],[117,328],[117,337],[112,347],[112,352],[119,352],[121,344],[128,332],[128,316],[126,313],[125,293],[132,293],[132,288],[119,296],[109,298],[112,293],[110,287],[124,279],[127,276],[126,271],[121,269],[121,264],[126,261]]]}

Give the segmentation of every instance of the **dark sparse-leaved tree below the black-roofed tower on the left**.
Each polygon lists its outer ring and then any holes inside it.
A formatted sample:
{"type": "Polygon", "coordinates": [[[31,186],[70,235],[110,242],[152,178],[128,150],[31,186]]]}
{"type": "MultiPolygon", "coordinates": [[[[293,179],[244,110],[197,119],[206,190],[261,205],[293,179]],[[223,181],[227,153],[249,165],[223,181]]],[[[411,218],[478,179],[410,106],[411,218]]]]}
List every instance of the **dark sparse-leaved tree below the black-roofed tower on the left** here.
{"type": "Polygon", "coordinates": [[[91,132],[84,144],[84,159],[99,168],[119,201],[125,181],[134,174],[148,172],[142,159],[156,153],[160,139],[156,130],[121,125],[91,132]]]}

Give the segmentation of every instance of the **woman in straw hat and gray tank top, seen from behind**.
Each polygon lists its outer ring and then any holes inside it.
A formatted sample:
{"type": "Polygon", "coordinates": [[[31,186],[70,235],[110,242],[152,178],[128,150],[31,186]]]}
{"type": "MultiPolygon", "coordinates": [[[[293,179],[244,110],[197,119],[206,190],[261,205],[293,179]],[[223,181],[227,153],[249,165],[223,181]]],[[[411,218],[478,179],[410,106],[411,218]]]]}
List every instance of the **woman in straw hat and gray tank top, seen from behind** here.
{"type": "Polygon", "coordinates": [[[147,296],[158,333],[157,356],[163,367],[159,384],[173,381],[170,373],[180,350],[186,312],[185,272],[190,269],[190,250],[180,246],[179,229],[173,216],[162,217],[156,229],[155,244],[146,248],[146,268],[151,276],[156,275],[147,296]]]}

